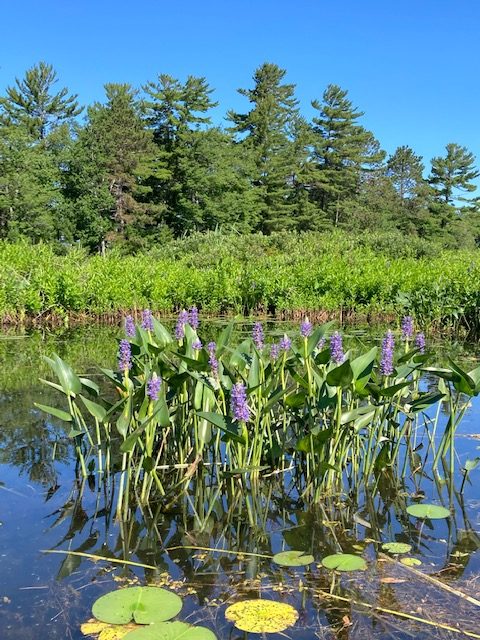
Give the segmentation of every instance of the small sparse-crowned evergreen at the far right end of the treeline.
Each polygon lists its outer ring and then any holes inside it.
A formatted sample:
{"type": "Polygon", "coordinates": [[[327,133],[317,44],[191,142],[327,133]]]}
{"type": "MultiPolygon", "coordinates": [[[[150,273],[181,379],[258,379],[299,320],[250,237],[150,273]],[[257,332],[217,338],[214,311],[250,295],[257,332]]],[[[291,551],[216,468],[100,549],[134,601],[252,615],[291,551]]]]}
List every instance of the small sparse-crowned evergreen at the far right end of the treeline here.
{"type": "Polygon", "coordinates": [[[444,157],[432,158],[429,182],[436,198],[447,205],[453,205],[455,200],[469,202],[469,198],[460,194],[472,193],[477,188],[472,182],[480,176],[475,168],[475,156],[466,147],[453,142],[445,149],[444,157]]]}

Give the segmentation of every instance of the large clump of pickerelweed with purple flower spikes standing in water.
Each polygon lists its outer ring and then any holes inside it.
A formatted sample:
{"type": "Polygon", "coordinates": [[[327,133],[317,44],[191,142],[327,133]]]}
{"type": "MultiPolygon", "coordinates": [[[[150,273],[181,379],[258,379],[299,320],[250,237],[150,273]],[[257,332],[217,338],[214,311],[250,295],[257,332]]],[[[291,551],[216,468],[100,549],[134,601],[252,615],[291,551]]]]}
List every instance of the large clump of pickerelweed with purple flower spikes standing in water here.
{"type": "MultiPolygon", "coordinates": [[[[132,496],[172,500],[200,471],[209,487],[233,478],[253,486],[275,472],[314,500],[383,472],[405,477],[425,434],[434,469],[442,461],[453,473],[480,367],[428,367],[422,334],[412,348],[398,340],[396,353],[389,331],[380,353],[356,355],[338,332],[328,338],[329,324],[308,319],[273,344],[258,323],[241,344],[232,344],[233,322],[207,344],[192,325],[195,308],[180,313],[174,336],[149,311],[137,325],[127,318],[102,391],[58,356],[46,359],[57,381],[44,382],[66,401],[37,407],[70,425],[84,476],[120,472],[120,515],[132,496]]],[[[407,328],[412,339],[410,319],[407,328]]]]}

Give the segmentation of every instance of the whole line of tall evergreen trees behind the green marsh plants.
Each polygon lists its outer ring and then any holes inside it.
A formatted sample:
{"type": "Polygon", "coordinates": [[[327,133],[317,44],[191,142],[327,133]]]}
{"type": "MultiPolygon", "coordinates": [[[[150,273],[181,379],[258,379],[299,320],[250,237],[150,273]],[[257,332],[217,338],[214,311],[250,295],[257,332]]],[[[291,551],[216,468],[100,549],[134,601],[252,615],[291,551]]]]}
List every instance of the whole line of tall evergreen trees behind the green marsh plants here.
{"type": "Polygon", "coordinates": [[[285,76],[260,66],[220,127],[205,78],[107,84],[84,110],[40,62],[0,97],[0,238],[136,252],[192,231],[338,227],[476,246],[467,148],[428,167],[406,145],[387,156],[346,90],[329,85],[307,122],[285,76]]]}

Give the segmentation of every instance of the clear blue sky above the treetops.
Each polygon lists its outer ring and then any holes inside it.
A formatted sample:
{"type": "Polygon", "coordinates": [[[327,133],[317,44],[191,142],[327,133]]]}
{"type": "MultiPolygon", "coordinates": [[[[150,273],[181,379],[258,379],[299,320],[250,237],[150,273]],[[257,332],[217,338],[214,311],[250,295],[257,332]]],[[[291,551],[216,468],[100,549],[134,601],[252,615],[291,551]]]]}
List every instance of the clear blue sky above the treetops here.
{"type": "Polygon", "coordinates": [[[247,109],[236,89],[269,61],[306,116],[336,83],[388,152],[408,144],[428,162],[458,142],[480,164],[479,26],[478,0],[4,0],[0,92],[40,60],[84,104],[106,82],[201,75],[221,121],[247,109]]]}

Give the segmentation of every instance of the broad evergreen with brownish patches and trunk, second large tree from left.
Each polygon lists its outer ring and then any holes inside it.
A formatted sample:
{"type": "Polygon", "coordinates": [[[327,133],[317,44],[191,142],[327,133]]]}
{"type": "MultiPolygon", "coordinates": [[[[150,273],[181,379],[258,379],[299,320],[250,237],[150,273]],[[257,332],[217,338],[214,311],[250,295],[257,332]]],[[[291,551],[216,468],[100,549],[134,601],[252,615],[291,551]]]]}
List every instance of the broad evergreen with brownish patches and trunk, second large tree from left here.
{"type": "Polygon", "coordinates": [[[147,182],[162,165],[136,92],[128,84],[107,84],[105,92],[106,103],[88,109],[66,178],[77,234],[90,246],[105,239],[139,242],[161,224],[161,210],[148,203],[147,182]]]}

